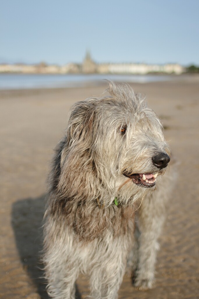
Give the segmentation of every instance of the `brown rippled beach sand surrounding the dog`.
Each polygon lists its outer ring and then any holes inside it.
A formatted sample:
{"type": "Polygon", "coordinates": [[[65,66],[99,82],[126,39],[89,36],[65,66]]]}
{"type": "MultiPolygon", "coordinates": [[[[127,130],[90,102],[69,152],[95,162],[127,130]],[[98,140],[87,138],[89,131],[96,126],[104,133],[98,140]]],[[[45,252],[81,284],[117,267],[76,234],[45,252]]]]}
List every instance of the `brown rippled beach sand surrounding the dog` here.
{"type": "MultiPolygon", "coordinates": [[[[125,276],[119,298],[199,298],[199,79],[132,86],[161,118],[179,178],[160,238],[154,288],[138,291],[125,276]]],[[[105,87],[0,91],[0,298],[48,298],[38,261],[49,161],[72,103],[99,96],[105,87]]],[[[77,298],[89,294],[85,277],[77,288],[77,298]]]]}

